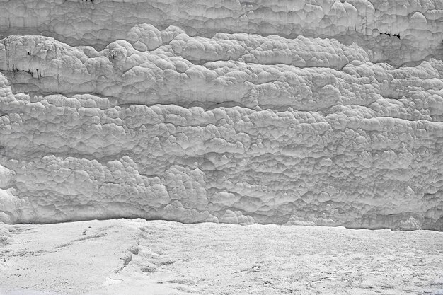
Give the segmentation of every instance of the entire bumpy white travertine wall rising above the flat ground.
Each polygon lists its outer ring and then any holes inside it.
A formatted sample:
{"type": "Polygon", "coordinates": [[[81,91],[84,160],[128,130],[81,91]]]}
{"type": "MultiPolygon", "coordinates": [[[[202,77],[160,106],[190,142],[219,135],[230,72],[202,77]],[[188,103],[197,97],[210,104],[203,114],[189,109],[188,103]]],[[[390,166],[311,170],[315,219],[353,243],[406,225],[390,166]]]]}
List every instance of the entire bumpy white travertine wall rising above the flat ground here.
{"type": "Polygon", "coordinates": [[[443,2],[0,0],[0,221],[443,230],[443,2]]]}

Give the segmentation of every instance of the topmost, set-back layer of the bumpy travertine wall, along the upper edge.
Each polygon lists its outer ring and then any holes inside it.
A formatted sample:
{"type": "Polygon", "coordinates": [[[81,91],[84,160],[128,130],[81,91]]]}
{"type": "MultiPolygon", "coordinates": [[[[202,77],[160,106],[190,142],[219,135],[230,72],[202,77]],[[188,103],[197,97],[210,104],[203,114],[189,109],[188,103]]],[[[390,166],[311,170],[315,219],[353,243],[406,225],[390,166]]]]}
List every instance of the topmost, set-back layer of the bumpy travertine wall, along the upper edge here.
{"type": "Polygon", "coordinates": [[[367,50],[372,62],[401,65],[442,52],[440,0],[1,0],[0,38],[45,35],[102,50],[148,23],[191,36],[252,33],[333,37],[367,50]]]}

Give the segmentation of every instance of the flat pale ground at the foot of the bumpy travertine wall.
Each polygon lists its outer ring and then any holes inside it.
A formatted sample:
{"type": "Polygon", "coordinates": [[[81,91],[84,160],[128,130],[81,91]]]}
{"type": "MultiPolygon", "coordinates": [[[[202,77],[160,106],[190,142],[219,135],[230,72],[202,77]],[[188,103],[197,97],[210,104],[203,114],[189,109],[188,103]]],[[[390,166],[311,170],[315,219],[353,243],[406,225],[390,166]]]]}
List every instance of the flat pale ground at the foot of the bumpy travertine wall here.
{"type": "Polygon", "coordinates": [[[10,235],[0,243],[1,295],[443,294],[437,231],[142,219],[1,226],[10,235]]]}

